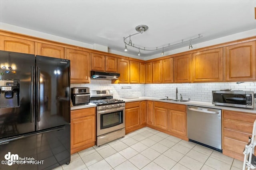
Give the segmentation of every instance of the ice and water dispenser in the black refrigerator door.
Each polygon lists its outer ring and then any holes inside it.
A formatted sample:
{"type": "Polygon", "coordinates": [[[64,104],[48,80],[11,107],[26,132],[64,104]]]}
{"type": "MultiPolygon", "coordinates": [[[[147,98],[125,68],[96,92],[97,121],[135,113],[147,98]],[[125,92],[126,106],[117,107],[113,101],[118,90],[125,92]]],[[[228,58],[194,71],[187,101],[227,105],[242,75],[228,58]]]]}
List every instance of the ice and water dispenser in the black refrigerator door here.
{"type": "Polygon", "coordinates": [[[20,80],[0,80],[0,108],[20,106],[20,80]]]}

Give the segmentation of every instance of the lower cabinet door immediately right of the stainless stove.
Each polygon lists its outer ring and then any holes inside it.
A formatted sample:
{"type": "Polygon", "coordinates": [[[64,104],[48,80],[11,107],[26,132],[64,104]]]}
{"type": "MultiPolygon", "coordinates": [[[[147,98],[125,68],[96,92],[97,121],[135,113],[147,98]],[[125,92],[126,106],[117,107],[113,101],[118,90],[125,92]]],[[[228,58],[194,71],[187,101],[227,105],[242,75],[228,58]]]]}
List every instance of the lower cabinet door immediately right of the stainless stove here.
{"type": "Polygon", "coordinates": [[[125,109],[125,130],[140,125],[140,107],[125,109]]]}

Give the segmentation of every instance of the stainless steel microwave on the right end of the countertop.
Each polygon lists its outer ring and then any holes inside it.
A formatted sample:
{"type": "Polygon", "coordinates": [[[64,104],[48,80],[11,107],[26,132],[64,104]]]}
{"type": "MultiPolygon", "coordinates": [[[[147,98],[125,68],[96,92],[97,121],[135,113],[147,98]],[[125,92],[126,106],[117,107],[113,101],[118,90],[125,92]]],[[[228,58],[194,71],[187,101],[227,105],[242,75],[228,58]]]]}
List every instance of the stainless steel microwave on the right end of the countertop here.
{"type": "Polygon", "coordinates": [[[212,104],[254,108],[254,92],[242,90],[212,91],[212,104]]]}

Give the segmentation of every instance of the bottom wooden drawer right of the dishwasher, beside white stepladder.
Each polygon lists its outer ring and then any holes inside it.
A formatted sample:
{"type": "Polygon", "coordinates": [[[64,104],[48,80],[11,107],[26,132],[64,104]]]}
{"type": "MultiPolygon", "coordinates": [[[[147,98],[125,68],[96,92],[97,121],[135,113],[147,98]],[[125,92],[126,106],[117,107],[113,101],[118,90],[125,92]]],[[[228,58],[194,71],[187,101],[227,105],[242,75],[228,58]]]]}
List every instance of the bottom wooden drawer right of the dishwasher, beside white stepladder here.
{"type": "Polygon", "coordinates": [[[236,152],[238,154],[243,155],[244,147],[248,142],[242,142],[238,141],[236,139],[231,139],[228,137],[223,137],[223,148],[227,150],[232,150],[233,152],[236,152]]]}

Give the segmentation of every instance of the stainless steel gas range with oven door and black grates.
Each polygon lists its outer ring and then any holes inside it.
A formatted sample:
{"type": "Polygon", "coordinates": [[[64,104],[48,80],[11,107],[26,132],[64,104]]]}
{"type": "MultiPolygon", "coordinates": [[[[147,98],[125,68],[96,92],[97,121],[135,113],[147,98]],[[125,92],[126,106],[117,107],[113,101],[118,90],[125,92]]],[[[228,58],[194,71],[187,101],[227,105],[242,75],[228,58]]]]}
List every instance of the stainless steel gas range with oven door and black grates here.
{"type": "Polygon", "coordinates": [[[90,90],[96,104],[97,141],[100,146],[125,136],[125,102],[113,99],[112,90],[90,90]]]}

